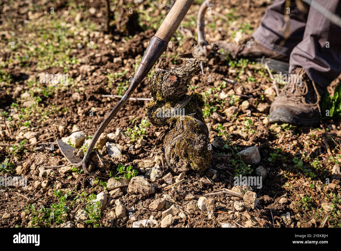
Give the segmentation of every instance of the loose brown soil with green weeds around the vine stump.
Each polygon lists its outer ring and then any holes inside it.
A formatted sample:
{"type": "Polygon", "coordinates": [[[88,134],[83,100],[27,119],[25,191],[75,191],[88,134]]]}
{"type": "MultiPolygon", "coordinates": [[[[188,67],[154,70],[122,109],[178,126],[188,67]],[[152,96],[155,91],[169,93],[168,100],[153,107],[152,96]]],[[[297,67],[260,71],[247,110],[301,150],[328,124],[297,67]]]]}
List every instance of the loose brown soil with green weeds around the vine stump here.
{"type": "MultiPolygon", "coordinates": [[[[33,214],[23,214],[29,206],[28,199],[34,199],[36,210],[42,206],[50,208],[51,204],[58,204],[58,198],[52,194],[57,186],[62,189],[63,194],[68,195],[68,215],[64,221],[76,222],[75,209],[85,207],[85,204],[76,201],[75,195],[68,191],[95,195],[102,191],[108,193],[102,185],[92,184],[92,177],[84,173],[60,175],[58,169],[54,169],[50,176],[39,177],[38,168],[68,165],[56,145],[53,151],[45,147],[49,147],[49,142],[69,136],[74,124],[86,135],[94,134],[118,101],[116,98],[102,95],[120,94],[118,84],[127,85],[126,81],[129,81],[136,70],[147,42],[170,7],[168,1],[159,1],[158,6],[152,1],[143,1],[140,4],[113,1],[112,9],[117,5],[117,10],[130,7],[138,10],[141,31],[130,30],[127,36],[117,32],[114,26],[113,35],[105,34],[105,1],[48,2],[0,3],[0,161],[5,165],[7,158],[7,162],[13,163],[13,166],[7,165],[8,171],[2,171],[1,175],[16,176],[16,170],[27,166],[24,172],[28,182],[27,188],[0,188],[2,227],[29,225],[33,214]],[[54,14],[50,14],[51,7],[54,8],[54,14]],[[14,48],[11,47],[11,42],[15,42],[14,48]],[[50,74],[69,74],[69,85],[40,83],[38,74],[46,71],[50,74]],[[11,106],[12,103],[15,105],[11,106]],[[93,116],[90,116],[91,111],[93,116]],[[25,141],[23,133],[26,132],[35,132],[35,139],[25,141]],[[12,148],[13,145],[19,146],[20,142],[23,145],[21,148],[12,148]],[[39,144],[41,142],[47,144],[39,144]],[[26,164],[28,162],[30,163],[26,164]],[[35,189],[34,183],[37,180],[48,180],[48,186],[45,189],[35,189]],[[8,213],[9,218],[3,217],[8,213]]],[[[247,37],[260,24],[270,2],[247,0],[241,3],[235,0],[217,0],[207,18],[206,39],[209,42],[237,42],[247,37]]],[[[196,2],[182,23],[183,28],[174,36],[172,47],[167,48],[157,63],[158,68],[167,70],[184,64],[185,61],[177,58],[177,54],[189,53],[195,45],[198,8],[199,2],[196,2]]],[[[115,13],[114,11],[114,16],[115,13]]],[[[135,90],[133,97],[151,97],[148,77],[135,90]]],[[[338,79],[333,82],[330,93],[339,81],[338,79]]],[[[206,76],[195,76],[191,86],[190,92],[195,90],[205,93],[207,106],[204,108],[204,115],[206,114],[205,122],[211,125],[210,140],[213,141],[216,137],[222,137],[224,140],[220,147],[213,147],[211,167],[201,173],[185,173],[186,181],[175,186],[175,189],[165,190],[162,179],[155,182],[148,180],[154,186],[155,194],[147,197],[129,194],[127,187],[123,187],[123,196],[119,200],[127,209],[127,216],[117,219],[110,213],[115,208],[113,200],[101,211],[98,220],[100,226],[131,227],[133,220],[149,219],[151,216],[160,223],[162,211],[172,203],[179,205],[186,214],[183,219],[174,217],[173,227],[220,227],[221,223],[225,222],[236,227],[341,226],[340,176],[332,174],[333,166],[340,161],[340,122],[321,121],[320,127],[268,124],[268,108],[260,111],[257,106],[260,103],[270,104],[274,99],[274,90],[269,89],[272,82],[264,67],[247,61],[231,61],[230,65],[206,69],[206,76]],[[241,96],[234,95],[232,90],[241,96]],[[226,93],[228,95],[224,96],[226,93]],[[249,102],[251,116],[242,111],[241,103],[244,100],[249,102]],[[236,106],[239,112],[231,120],[226,120],[224,110],[232,105],[236,106]],[[216,114],[213,115],[213,112],[218,112],[225,121],[218,123],[219,118],[216,114]],[[251,167],[244,165],[234,154],[249,146],[258,146],[261,153],[261,162],[251,167]],[[296,159],[302,162],[297,163],[296,159]],[[216,204],[211,218],[195,206],[200,196],[225,188],[231,189],[236,174],[255,176],[254,171],[258,166],[265,167],[267,177],[263,180],[261,189],[253,187],[259,200],[255,210],[236,213],[235,219],[232,219],[230,210],[236,211],[233,204],[238,198],[228,194],[206,196],[213,198],[216,204]],[[329,179],[329,182],[326,183],[326,179],[329,179]],[[168,194],[165,208],[150,210],[149,204],[162,197],[162,194],[168,194]],[[185,201],[183,196],[186,194],[192,194],[194,199],[185,201]],[[280,204],[281,198],[286,198],[288,202],[280,204]],[[331,203],[332,210],[324,211],[322,203],[331,203]],[[193,204],[194,207],[191,209],[188,204],[193,204]],[[132,207],[132,216],[129,217],[128,209],[132,207]],[[280,217],[288,213],[292,219],[290,224],[286,224],[280,217]]],[[[104,133],[115,133],[118,127],[125,131],[138,125],[144,119],[145,104],[143,101],[129,101],[104,133]],[[133,124],[131,120],[134,120],[133,124]]],[[[129,147],[129,144],[135,146],[136,142],[128,137],[115,137],[111,141],[123,146],[122,155],[119,158],[105,158],[112,162],[111,168],[114,171],[117,165],[122,163],[125,166],[132,165],[139,172],[138,175],[144,175],[144,171],[133,161],[154,160],[155,156],[163,156],[162,144],[157,143],[160,142],[160,134],[166,129],[151,125],[147,127],[144,137],[147,144],[138,149],[129,147]]],[[[171,172],[165,163],[159,166],[164,169],[164,175],[171,172]]],[[[171,174],[175,181],[178,174],[171,174]]],[[[52,222],[52,225],[59,226],[55,222],[52,222]]],[[[86,226],[91,227],[92,224],[86,226]]]]}

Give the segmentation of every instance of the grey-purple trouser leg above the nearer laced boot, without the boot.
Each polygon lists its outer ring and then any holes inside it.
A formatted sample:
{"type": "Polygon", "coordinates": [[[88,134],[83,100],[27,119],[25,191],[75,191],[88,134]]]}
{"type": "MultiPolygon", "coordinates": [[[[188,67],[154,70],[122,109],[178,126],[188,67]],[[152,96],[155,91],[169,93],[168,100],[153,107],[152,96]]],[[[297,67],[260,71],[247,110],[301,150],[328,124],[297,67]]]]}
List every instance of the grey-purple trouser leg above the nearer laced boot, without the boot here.
{"type": "MultiPolygon", "coordinates": [[[[333,14],[341,15],[341,1],[314,0],[333,14]]],[[[290,68],[303,67],[316,84],[327,87],[341,73],[341,27],[311,6],[303,40],[290,56],[290,68]]]]}

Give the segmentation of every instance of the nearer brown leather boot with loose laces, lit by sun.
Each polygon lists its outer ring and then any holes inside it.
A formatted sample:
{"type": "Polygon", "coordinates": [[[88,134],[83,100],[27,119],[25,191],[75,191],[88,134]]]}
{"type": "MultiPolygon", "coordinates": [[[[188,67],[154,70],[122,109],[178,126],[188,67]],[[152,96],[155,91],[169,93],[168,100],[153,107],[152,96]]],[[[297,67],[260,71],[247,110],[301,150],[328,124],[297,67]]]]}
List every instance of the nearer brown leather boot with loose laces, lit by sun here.
{"type": "Polygon", "coordinates": [[[270,107],[270,123],[311,126],[320,120],[320,101],[326,88],[311,81],[303,68],[296,68],[270,107]],[[296,79],[295,79],[295,76],[296,79]]]}

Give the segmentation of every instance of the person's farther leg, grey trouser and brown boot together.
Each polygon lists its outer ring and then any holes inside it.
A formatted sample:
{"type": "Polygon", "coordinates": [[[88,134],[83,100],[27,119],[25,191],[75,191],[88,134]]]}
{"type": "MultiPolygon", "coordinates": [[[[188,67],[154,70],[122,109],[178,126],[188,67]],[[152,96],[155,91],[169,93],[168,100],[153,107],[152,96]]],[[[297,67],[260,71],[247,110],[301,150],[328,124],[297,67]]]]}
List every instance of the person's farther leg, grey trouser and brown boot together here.
{"type": "MultiPolygon", "coordinates": [[[[261,26],[251,38],[240,42],[239,45],[224,41],[216,43],[235,59],[259,61],[263,58],[262,61],[267,62],[270,69],[288,73],[290,53],[303,38],[308,15],[299,10],[295,1],[291,1],[290,14],[286,16],[285,2],[286,0],[274,0],[267,8],[261,26]]],[[[302,8],[308,12],[309,5],[302,4],[302,8]]]]}

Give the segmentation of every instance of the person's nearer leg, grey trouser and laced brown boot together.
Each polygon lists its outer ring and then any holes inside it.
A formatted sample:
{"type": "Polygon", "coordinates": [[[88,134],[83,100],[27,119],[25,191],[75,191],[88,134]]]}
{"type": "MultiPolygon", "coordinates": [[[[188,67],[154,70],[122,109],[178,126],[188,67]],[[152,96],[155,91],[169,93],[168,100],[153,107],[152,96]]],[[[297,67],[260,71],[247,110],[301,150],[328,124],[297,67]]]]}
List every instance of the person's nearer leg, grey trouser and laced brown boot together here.
{"type": "MultiPolygon", "coordinates": [[[[329,13],[341,14],[339,0],[314,2],[329,13]]],[[[289,81],[272,102],[269,122],[316,124],[321,115],[321,97],[330,82],[341,73],[341,28],[331,23],[314,5],[310,7],[303,40],[291,53],[290,72],[298,76],[298,80],[289,81]]]]}

